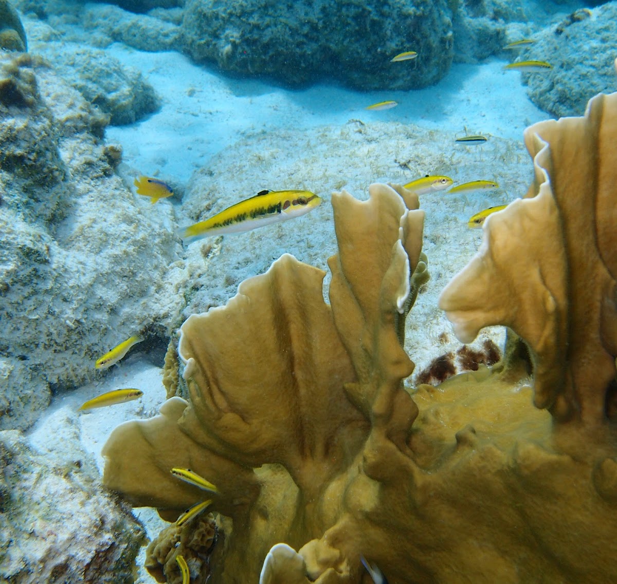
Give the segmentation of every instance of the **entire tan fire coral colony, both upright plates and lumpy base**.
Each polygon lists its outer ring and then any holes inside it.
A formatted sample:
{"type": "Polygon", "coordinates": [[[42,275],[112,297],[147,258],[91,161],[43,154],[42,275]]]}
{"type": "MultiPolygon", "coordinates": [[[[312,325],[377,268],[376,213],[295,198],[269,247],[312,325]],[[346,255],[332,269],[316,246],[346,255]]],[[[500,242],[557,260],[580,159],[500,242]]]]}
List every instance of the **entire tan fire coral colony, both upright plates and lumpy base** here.
{"type": "MultiPolygon", "coordinates": [[[[528,130],[536,185],[487,220],[483,255],[444,292],[463,341],[513,329],[497,364],[492,348],[486,364],[465,351],[476,370],[405,391],[424,214],[396,185],[371,185],[365,202],[334,193],[330,304],[325,273],[283,256],[191,316],[188,401],[118,427],[104,483],[169,520],[212,499],[217,584],[360,584],[361,556],[390,584],[614,580],[615,119],[617,94],[528,130]]],[[[169,541],[152,544],[152,570],[175,582],[169,541]]]]}

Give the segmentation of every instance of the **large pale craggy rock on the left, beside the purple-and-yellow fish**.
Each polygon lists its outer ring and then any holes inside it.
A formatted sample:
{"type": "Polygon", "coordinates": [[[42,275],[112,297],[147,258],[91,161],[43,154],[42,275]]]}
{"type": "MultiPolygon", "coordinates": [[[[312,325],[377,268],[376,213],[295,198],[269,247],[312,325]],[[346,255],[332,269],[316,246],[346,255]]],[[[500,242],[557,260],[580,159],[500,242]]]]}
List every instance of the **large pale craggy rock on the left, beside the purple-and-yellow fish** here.
{"type": "Polygon", "coordinates": [[[147,323],[167,334],[184,306],[169,288],[183,278],[173,212],[115,174],[106,119],[44,62],[0,56],[7,69],[31,83],[27,106],[0,100],[3,429],[31,425],[147,323]]]}

